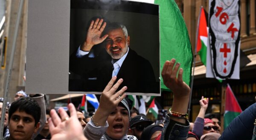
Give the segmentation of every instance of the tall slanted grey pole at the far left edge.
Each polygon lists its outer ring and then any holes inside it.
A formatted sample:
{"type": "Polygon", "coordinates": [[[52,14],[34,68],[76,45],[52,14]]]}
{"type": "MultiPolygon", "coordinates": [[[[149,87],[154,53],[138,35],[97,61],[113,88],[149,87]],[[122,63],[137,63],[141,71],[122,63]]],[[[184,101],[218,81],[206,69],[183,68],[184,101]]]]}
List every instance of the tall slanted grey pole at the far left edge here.
{"type": "MultiPolygon", "coordinates": [[[[6,87],[4,90],[4,95],[3,95],[3,107],[2,107],[2,113],[1,113],[1,118],[5,118],[5,112],[6,112],[6,105],[7,105],[7,100],[8,100],[8,94],[9,94],[9,86],[11,83],[11,77],[12,77],[12,65],[13,65],[13,59],[14,59],[14,53],[15,53],[15,48],[16,48],[16,41],[17,41],[17,36],[18,36],[18,31],[19,31],[19,25],[20,25],[20,17],[22,13],[22,8],[23,8],[23,3],[24,0],[20,0],[18,11],[17,11],[17,18],[16,18],[16,23],[15,23],[15,29],[14,29],[14,35],[13,35],[13,41],[12,41],[12,50],[11,50],[11,55],[10,55],[10,60],[9,60],[9,65],[8,65],[8,71],[7,71],[7,76],[6,76],[6,87]]],[[[0,140],[3,140],[3,126],[4,125],[4,119],[0,120],[0,140]]]]}

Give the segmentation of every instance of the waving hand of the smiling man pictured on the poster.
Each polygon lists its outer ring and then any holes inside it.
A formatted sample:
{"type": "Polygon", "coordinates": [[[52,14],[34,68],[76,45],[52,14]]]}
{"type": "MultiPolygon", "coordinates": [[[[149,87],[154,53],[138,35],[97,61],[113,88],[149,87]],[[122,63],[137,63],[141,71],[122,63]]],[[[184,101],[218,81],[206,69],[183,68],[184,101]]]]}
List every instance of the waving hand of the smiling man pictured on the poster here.
{"type": "Polygon", "coordinates": [[[106,22],[104,22],[102,25],[102,22],[103,19],[99,20],[99,18],[97,18],[96,21],[91,21],[90,27],[87,31],[86,40],[83,45],[81,45],[80,50],[90,51],[94,45],[103,42],[108,37],[108,34],[102,36],[102,32],[104,31],[107,24],[106,22]]]}

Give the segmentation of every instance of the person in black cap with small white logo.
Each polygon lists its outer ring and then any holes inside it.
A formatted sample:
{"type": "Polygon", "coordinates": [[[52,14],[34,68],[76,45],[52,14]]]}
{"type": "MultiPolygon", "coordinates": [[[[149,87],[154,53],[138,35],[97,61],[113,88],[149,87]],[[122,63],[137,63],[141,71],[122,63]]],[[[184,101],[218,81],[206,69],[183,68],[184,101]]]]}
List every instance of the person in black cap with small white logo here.
{"type": "Polygon", "coordinates": [[[136,136],[138,140],[143,140],[143,139],[140,139],[140,136],[143,130],[147,126],[150,126],[152,123],[154,122],[151,120],[148,120],[145,115],[137,115],[134,118],[131,118],[128,134],[136,136]]]}

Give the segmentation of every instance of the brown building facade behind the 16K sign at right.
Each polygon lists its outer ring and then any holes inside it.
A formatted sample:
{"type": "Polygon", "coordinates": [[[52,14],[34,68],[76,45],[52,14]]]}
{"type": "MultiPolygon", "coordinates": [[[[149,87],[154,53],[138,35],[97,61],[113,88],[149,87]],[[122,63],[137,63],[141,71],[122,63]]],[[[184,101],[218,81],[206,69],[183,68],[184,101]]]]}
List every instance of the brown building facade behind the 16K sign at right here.
{"type": "MultiPolygon", "coordinates": [[[[195,38],[200,7],[209,10],[209,0],[175,0],[182,12],[192,50],[195,50],[195,38]]],[[[241,50],[251,60],[249,64],[240,69],[239,80],[227,80],[220,83],[214,78],[206,78],[206,67],[201,63],[200,57],[196,56],[195,77],[192,91],[190,120],[194,121],[198,115],[201,96],[209,98],[207,113],[221,114],[221,92],[225,83],[230,84],[236,98],[244,110],[255,103],[256,96],[256,3],[255,0],[240,0],[241,14],[241,50]]],[[[195,52],[194,52],[195,53],[195,52]]],[[[172,106],[172,94],[163,92],[162,97],[157,98],[162,101],[162,106],[166,109],[172,106]]],[[[224,106],[222,106],[223,108],[224,106]]]]}

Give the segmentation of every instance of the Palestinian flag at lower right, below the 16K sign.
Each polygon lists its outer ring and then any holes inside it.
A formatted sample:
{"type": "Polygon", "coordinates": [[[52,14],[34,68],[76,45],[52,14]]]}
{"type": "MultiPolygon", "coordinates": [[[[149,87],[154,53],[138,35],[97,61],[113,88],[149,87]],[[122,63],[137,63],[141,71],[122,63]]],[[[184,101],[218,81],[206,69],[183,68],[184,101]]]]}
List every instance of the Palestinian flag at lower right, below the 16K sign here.
{"type": "Polygon", "coordinates": [[[232,92],[230,85],[227,84],[226,89],[226,103],[224,114],[224,129],[230,124],[230,122],[236,118],[242,112],[234,93],[232,92]]]}

